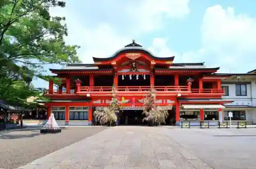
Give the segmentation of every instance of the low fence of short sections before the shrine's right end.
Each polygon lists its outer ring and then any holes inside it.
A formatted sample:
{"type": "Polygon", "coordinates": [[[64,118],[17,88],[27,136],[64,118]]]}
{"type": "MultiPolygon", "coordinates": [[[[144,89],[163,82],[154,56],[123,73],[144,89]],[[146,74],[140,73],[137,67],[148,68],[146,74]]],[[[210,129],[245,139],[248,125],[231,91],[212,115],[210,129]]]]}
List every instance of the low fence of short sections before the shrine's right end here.
{"type": "Polygon", "coordinates": [[[236,127],[236,128],[247,128],[247,122],[237,122],[237,125],[232,125],[232,123],[230,124],[230,122],[225,122],[225,123],[220,123],[218,122],[218,125],[210,125],[209,121],[207,122],[200,122],[199,125],[190,125],[190,121],[188,121],[188,123],[183,123],[181,121],[181,128],[230,128],[231,127],[236,127]]]}

